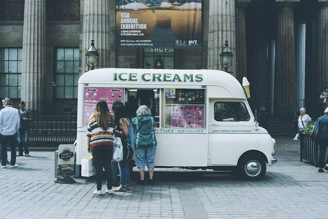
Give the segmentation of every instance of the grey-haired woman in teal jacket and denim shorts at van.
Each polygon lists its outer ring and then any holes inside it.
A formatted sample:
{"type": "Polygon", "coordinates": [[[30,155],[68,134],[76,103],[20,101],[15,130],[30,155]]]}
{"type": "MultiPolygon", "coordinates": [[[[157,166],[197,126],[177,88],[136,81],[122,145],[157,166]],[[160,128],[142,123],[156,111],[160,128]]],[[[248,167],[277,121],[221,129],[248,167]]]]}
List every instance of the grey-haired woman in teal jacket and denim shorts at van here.
{"type": "Polygon", "coordinates": [[[136,112],[137,116],[132,118],[135,125],[135,154],[137,157],[137,167],[140,172],[139,184],[145,185],[145,166],[149,169],[149,184],[154,184],[154,160],[156,150],[156,137],[153,126],[155,124],[154,117],[151,115],[150,109],[146,105],[142,105],[136,112]]]}

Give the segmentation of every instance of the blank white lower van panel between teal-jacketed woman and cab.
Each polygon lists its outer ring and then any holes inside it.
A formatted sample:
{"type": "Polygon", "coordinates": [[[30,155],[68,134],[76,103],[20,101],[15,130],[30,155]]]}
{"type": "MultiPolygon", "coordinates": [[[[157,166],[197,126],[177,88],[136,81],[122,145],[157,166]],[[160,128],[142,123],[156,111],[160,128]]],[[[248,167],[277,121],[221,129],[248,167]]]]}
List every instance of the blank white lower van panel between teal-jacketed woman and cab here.
{"type": "Polygon", "coordinates": [[[155,133],[155,166],[207,167],[208,135],[155,133]]]}

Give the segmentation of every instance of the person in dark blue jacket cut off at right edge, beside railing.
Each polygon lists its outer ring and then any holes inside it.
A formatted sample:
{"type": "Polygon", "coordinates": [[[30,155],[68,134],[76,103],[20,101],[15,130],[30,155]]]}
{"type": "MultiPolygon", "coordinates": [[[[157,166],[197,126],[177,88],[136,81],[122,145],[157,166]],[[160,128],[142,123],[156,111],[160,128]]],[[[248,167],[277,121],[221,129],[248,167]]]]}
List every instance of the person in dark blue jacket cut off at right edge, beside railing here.
{"type": "Polygon", "coordinates": [[[319,172],[323,172],[322,168],[328,171],[328,161],[324,162],[328,147],[328,107],[324,115],[318,118],[314,130],[318,130],[316,143],[319,145],[319,172]]]}

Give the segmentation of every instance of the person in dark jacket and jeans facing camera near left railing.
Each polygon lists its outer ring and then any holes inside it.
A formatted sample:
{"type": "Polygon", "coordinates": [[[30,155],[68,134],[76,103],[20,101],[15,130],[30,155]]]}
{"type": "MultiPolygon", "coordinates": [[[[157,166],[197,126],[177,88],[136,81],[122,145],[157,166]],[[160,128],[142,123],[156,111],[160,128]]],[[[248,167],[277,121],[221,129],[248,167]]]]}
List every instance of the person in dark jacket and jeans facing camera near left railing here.
{"type": "Polygon", "coordinates": [[[20,118],[20,125],[18,134],[18,153],[17,156],[23,156],[23,145],[25,156],[30,156],[29,149],[28,149],[28,142],[29,142],[29,123],[32,121],[31,113],[27,109],[25,109],[25,102],[22,101],[19,103],[19,118],[20,118]]]}

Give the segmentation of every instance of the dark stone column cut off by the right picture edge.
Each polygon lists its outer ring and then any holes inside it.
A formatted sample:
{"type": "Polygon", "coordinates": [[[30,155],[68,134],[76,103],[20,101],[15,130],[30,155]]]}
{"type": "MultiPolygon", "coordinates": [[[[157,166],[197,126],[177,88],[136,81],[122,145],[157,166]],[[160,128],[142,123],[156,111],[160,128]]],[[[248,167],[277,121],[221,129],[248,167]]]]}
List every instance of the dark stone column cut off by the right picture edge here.
{"type": "Polygon", "coordinates": [[[319,89],[328,86],[328,1],[319,0],[318,71],[319,89]]]}

